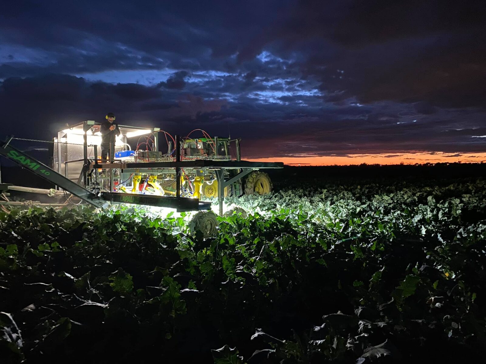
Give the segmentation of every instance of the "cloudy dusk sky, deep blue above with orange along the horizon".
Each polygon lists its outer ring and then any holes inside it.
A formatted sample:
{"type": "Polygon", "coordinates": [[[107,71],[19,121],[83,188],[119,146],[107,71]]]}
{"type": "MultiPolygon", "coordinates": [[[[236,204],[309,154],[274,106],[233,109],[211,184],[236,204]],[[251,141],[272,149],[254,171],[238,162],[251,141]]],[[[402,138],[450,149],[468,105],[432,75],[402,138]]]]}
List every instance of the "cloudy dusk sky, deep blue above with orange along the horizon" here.
{"type": "Polygon", "coordinates": [[[474,0],[4,2],[0,137],[114,112],[230,132],[244,159],[486,161],[485,14],[474,0]]]}

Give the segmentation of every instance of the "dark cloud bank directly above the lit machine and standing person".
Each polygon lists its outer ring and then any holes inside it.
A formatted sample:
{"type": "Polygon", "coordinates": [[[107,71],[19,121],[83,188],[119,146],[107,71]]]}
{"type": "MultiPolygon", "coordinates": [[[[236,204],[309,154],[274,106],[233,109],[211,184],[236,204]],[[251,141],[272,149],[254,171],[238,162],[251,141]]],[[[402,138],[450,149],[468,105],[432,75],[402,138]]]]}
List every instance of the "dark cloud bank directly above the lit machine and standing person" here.
{"type": "Polygon", "coordinates": [[[156,126],[164,120],[176,127],[174,132],[184,132],[189,121],[225,104],[226,100],[173,94],[156,86],[89,83],[68,75],[9,78],[0,84],[3,132],[47,139],[66,123],[101,121],[107,111],[114,111],[121,123],[156,126]]]}

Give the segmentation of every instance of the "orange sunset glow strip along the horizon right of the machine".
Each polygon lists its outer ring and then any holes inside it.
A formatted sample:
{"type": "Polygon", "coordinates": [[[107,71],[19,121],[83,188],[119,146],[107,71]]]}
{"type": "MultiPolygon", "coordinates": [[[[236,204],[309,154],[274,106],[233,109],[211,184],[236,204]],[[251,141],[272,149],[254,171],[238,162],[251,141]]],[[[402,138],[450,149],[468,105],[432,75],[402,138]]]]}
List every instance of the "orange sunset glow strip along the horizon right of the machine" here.
{"type": "Polygon", "coordinates": [[[424,163],[484,163],[486,153],[406,153],[406,154],[350,154],[348,156],[281,157],[248,159],[252,162],[283,162],[286,165],[398,165],[424,163]]]}

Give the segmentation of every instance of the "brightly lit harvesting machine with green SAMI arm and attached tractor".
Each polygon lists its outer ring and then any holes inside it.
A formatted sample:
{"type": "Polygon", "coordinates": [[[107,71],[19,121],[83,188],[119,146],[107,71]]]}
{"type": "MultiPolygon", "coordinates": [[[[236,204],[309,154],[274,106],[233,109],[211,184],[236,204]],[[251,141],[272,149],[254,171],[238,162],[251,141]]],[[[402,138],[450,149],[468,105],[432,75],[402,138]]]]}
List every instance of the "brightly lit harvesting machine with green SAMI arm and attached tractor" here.
{"type": "Polygon", "coordinates": [[[58,132],[50,143],[50,166],[12,146],[13,137],[0,144],[0,154],[52,182],[58,193],[99,208],[130,203],[179,212],[210,210],[211,202],[204,199],[217,198],[219,215],[227,196],[269,193],[272,182],[261,169],[283,167],[241,160],[240,139],[211,137],[200,129],[193,131],[200,138],[190,138],[193,132],[180,138],[159,128],[123,125],[114,155],[102,160],[100,125],[87,120],[58,132]],[[158,149],[161,136],[165,152],[158,149]]]}

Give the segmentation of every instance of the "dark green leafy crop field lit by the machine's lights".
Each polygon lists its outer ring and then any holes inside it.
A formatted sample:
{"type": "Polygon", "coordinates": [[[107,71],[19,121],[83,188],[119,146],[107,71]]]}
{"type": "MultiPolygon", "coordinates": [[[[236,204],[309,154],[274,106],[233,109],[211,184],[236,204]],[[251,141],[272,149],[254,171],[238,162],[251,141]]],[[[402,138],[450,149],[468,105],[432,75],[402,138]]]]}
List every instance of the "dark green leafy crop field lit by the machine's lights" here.
{"type": "Polygon", "coordinates": [[[461,363],[486,350],[486,182],[280,181],[214,237],[0,212],[2,363],[461,363]]]}

